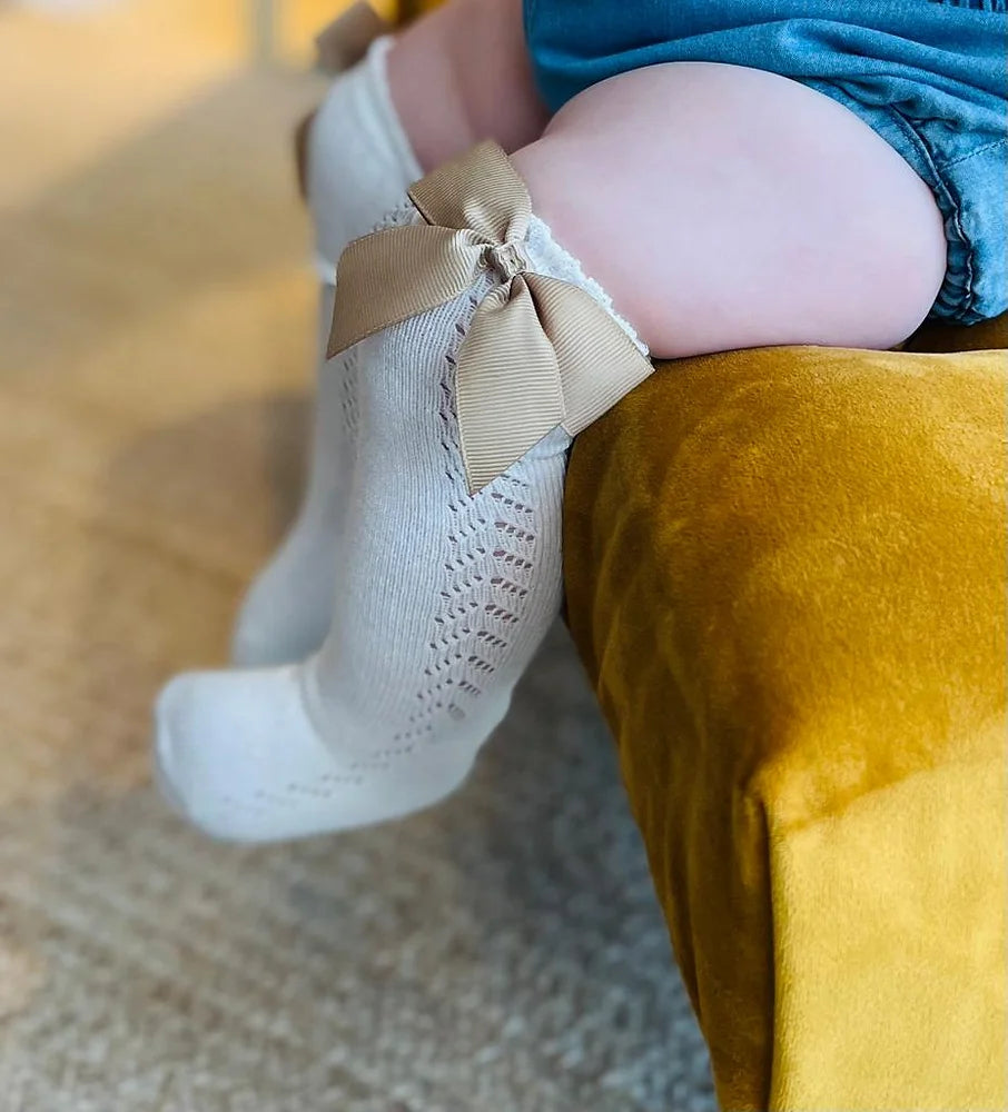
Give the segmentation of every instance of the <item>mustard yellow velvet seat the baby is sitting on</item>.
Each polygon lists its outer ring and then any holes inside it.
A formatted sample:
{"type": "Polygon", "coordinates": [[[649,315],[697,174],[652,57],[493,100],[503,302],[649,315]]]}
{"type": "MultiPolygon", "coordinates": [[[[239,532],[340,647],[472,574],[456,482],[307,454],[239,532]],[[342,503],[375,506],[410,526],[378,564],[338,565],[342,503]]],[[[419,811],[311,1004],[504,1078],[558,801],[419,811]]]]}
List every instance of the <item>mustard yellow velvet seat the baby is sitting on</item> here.
{"type": "Polygon", "coordinates": [[[575,445],[569,622],[725,1109],[1008,1102],[1006,387],[732,353],[575,445]]]}

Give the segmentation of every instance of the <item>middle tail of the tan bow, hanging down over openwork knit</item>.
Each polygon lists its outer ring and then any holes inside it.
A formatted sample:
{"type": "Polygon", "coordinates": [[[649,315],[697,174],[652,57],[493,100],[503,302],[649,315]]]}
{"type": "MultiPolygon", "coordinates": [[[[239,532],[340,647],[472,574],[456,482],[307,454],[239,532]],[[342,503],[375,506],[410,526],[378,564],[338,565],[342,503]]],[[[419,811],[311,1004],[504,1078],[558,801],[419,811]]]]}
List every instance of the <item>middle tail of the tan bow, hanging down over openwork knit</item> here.
{"type": "Polygon", "coordinates": [[[470,494],[563,421],[556,353],[524,278],[480,304],[458,354],[455,406],[470,494]]]}

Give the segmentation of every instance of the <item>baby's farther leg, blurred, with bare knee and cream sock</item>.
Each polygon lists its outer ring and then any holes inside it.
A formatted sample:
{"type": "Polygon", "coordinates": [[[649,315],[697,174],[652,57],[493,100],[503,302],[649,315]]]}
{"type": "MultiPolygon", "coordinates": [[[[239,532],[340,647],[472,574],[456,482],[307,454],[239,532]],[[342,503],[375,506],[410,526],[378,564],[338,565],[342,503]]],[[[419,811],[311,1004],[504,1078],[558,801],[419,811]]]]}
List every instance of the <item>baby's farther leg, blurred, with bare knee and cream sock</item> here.
{"type": "Polygon", "coordinates": [[[333,85],[308,128],[305,191],[324,330],[313,448],[297,518],[241,606],[231,647],[239,666],[300,659],[329,628],[356,437],[354,357],[325,359],[336,262],[425,170],[478,139],[514,149],[541,133],[545,112],[532,89],[521,19],[521,0],[452,0],[373,47],[333,85]]]}

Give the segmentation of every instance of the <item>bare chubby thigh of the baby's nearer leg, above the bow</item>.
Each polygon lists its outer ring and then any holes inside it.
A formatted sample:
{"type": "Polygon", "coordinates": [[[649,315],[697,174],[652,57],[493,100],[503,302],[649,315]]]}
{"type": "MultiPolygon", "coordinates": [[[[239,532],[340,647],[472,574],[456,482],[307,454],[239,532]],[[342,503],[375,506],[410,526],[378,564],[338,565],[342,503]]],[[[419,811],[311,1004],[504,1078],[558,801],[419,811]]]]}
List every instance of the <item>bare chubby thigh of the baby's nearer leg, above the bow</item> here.
{"type": "Polygon", "coordinates": [[[650,66],[514,156],[535,211],[655,356],[890,347],[941,286],[929,188],[861,119],[762,70],[650,66]]]}

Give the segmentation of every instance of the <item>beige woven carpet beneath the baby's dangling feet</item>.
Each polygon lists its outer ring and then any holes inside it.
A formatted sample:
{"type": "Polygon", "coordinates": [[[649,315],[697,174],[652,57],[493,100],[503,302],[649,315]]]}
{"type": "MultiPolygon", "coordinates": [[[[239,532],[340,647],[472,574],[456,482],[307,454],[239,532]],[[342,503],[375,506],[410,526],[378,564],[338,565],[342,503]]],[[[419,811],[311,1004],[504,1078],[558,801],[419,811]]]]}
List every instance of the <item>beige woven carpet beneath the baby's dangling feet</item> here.
{"type": "Polygon", "coordinates": [[[0,1112],[708,1112],[561,631],[427,815],[238,851],[150,791],[298,484],[314,91],[239,17],[0,7],[0,1112]]]}

